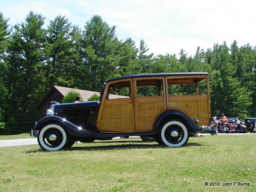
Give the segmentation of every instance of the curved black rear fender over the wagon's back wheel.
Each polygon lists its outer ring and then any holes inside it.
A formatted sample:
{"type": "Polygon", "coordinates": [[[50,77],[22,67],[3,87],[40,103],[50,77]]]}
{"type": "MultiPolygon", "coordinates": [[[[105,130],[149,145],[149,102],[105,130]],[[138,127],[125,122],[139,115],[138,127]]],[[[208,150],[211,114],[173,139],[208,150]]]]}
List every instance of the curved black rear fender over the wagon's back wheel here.
{"type": "Polygon", "coordinates": [[[159,115],[154,125],[154,132],[158,133],[161,128],[161,124],[168,119],[180,119],[185,121],[188,125],[188,129],[192,133],[196,133],[196,131],[201,131],[201,129],[193,122],[186,114],[180,112],[179,110],[168,110],[163,112],[163,114],[159,115]]]}

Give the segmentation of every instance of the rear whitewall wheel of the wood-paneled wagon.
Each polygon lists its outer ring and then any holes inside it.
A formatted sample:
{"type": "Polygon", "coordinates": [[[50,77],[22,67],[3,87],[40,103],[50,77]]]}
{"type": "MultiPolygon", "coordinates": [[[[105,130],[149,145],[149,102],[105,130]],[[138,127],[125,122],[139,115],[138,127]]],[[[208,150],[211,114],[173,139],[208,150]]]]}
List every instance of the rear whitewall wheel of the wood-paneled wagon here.
{"type": "Polygon", "coordinates": [[[159,143],[168,147],[180,147],[188,142],[188,129],[181,121],[166,121],[157,135],[159,143]]]}

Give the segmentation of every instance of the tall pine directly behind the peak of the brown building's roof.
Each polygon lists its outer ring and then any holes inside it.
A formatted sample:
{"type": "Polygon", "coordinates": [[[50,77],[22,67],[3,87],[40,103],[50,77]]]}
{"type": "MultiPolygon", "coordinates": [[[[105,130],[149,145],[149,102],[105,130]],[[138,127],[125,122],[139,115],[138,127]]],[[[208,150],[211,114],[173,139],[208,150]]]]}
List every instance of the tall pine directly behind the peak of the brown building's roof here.
{"type": "Polygon", "coordinates": [[[58,15],[50,21],[47,29],[45,56],[47,66],[45,73],[47,79],[46,88],[58,84],[68,86],[70,82],[70,70],[72,70],[74,57],[73,28],[68,18],[58,15]]]}

